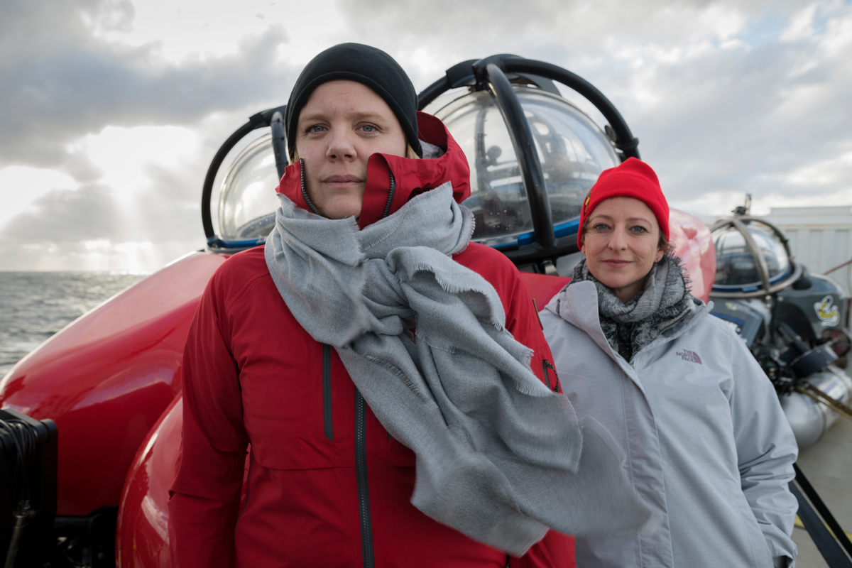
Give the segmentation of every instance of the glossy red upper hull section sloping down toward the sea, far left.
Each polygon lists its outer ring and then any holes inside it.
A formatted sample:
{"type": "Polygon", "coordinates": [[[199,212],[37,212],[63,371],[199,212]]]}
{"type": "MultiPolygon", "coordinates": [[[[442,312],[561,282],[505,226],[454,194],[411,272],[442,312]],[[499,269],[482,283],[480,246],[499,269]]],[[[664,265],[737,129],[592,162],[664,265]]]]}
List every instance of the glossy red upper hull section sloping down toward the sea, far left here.
{"type": "Polygon", "coordinates": [[[136,450],[181,390],[187,330],[224,260],[182,257],[69,324],[0,382],[0,406],[59,428],[57,514],[118,506],[136,450]]]}

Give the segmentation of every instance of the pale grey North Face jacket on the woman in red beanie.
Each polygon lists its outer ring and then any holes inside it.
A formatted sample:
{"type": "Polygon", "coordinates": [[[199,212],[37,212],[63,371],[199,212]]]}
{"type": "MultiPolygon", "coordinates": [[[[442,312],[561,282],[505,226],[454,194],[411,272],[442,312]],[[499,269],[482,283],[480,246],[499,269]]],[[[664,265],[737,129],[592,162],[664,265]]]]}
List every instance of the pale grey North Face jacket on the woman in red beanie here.
{"type": "Polygon", "coordinates": [[[579,568],[794,565],[796,440],[757,361],[696,302],[629,362],[603,335],[592,282],[540,313],[565,394],[613,434],[653,510],[639,531],[577,538],[579,568]]]}

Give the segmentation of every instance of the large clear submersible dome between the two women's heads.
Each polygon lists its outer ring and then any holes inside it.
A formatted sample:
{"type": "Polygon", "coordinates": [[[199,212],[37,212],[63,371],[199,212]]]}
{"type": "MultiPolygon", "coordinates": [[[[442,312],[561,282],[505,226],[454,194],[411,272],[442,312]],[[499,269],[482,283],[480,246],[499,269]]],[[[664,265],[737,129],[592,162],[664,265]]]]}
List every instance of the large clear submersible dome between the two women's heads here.
{"type": "MultiPolygon", "coordinates": [[[[620,161],[607,135],[567,100],[542,89],[512,87],[533,132],[551,219],[560,236],[559,226],[579,216],[598,175],[620,161]]],[[[471,197],[464,204],[476,218],[474,238],[499,245],[532,232],[515,147],[493,95],[485,90],[465,93],[435,116],[444,121],[470,164],[471,197]]]]}

